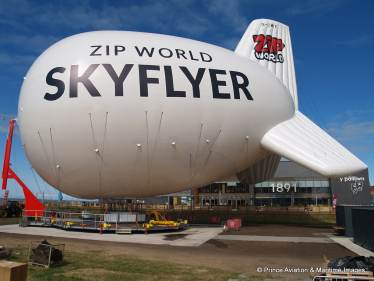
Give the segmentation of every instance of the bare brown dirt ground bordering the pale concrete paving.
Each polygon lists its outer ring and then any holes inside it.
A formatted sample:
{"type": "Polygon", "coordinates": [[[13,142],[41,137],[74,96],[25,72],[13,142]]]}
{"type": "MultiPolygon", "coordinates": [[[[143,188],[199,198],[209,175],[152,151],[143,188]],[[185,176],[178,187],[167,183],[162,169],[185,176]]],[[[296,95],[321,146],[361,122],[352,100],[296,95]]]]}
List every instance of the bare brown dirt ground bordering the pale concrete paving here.
{"type": "MultiPolygon", "coordinates": [[[[287,226],[251,225],[240,231],[230,231],[225,235],[261,235],[287,237],[323,237],[331,235],[331,226],[287,226]]],[[[141,234],[138,234],[141,235],[141,234]]],[[[32,241],[47,239],[52,244],[64,243],[65,251],[89,252],[103,251],[110,254],[128,254],[141,259],[168,261],[191,266],[207,266],[235,271],[238,274],[258,277],[285,277],[288,280],[302,280],[309,277],[304,273],[264,273],[257,272],[260,267],[275,269],[321,267],[324,255],[333,260],[347,255],[356,256],[336,243],[294,243],[294,242],[252,242],[235,240],[208,240],[199,247],[180,247],[165,245],[145,245],[118,242],[97,242],[90,240],[65,239],[44,236],[0,233],[0,244],[6,248],[28,247],[32,241]]]]}

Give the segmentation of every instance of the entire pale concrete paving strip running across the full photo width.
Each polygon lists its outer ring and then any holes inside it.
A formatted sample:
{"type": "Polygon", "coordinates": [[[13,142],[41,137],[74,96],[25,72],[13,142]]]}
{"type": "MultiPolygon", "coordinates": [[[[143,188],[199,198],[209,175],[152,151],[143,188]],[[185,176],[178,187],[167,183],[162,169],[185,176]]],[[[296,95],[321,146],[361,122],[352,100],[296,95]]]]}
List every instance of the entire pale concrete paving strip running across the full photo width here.
{"type": "Polygon", "coordinates": [[[18,225],[2,225],[0,232],[24,235],[38,235],[63,237],[73,239],[85,239],[95,241],[111,241],[125,243],[171,245],[198,247],[210,239],[262,241],[262,242],[293,242],[293,243],[339,243],[360,256],[374,256],[374,252],[366,250],[355,244],[352,238],[345,237],[282,237],[282,236],[256,236],[256,235],[219,235],[221,227],[194,226],[175,232],[158,232],[145,234],[115,234],[96,232],[83,232],[62,230],[53,227],[19,227],[18,225]]]}

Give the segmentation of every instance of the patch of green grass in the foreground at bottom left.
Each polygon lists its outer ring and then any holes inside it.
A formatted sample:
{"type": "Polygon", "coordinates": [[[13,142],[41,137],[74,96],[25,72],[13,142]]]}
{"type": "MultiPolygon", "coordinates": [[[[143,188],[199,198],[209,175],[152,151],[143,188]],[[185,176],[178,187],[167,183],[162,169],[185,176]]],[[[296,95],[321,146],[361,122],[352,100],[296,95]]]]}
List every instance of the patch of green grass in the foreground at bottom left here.
{"type": "MultiPolygon", "coordinates": [[[[12,261],[26,262],[28,249],[13,248],[12,261]]],[[[30,281],[49,280],[241,280],[235,272],[208,267],[193,267],[172,262],[107,255],[101,251],[65,252],[64,265],[44,268],[29,265],[30,281]]],[[[260,280],[260,279],[246,279],[260,280]]]]}

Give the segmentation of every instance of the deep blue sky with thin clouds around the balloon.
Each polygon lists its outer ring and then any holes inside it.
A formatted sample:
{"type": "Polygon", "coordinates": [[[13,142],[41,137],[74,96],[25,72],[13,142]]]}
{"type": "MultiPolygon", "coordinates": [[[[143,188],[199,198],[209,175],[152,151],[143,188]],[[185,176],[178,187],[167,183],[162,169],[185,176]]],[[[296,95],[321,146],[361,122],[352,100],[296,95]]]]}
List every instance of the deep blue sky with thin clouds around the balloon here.
{"type": "MultiPolygon", "coordinates": [[[[86,31],[130,30],[234,50],[252,20],[268,18],[290,27],[301,112],[366,163],[373,182],[373,12],[374,1],[353,0],[0,0],[0,157],[23,77],[57,41],[86,31]]],[[[34,194],[57,198],[31,169],[18,128],[11,163],[34,194]]],[[[14,180],[8,189],[10,197],[22,196],[14,180]]]]}

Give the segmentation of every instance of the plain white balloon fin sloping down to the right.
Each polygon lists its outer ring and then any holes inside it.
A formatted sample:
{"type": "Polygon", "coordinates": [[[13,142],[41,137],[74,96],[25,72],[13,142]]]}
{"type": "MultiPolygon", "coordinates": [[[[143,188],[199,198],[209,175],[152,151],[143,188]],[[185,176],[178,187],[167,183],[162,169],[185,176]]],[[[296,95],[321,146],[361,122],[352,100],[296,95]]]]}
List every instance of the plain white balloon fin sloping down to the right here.
{"type": "Polygon", "coordinates": [[[367,169],[361,160],[298,110],[293,118],[267,132],[261,147],[329,178],[367,169]]]}

